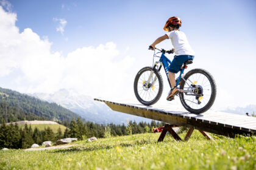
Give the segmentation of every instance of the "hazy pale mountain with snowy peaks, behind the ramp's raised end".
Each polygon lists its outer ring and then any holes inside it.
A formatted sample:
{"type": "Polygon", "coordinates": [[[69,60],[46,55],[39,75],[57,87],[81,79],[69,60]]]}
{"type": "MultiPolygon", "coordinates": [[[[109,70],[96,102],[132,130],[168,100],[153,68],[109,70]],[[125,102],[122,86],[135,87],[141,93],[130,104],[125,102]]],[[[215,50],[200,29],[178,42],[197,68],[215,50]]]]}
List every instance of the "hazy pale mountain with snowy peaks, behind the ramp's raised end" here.
{"type": "Polygon", "coordinates": [[[105,103],[94,101],[93,98],[86,95],[80,95],[74,90],[61,89],[54,94],[33,94],[34,97],[48,102],[54,102],[69,109],[86,121],[93,121],[99,124],[127,124],[127,120],[151,122],[151,120],[142,117],[136,117],[129,114],[115,112],[105,103]]]}

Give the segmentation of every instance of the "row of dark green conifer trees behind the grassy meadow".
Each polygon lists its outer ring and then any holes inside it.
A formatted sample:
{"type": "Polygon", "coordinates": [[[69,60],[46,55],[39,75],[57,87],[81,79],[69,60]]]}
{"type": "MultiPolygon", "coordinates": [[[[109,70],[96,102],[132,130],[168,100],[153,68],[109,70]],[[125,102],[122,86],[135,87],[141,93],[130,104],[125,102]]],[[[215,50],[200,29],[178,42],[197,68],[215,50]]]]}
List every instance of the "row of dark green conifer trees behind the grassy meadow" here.
{"type": "Polygon", "coordinates": [[[31,126],[25,124],[24,128],[18,124],[10,123],[7,125],[4,119],[1,120],[0,125],[0,149],[1,148],[30,148],[34,143],[41,144],[43,141],[55,142],[61,138],[77,138],[78,140],[85,140],[90,137],[107,138],[112,136],[124,136],[131,134],[142,134],[152,132],[152,128],[163,126],[163,123],[151,121],[151,123],[129,121],[128,126],[116,124],[96,124],[90,121],[85,123],[80,119],[73,118],[70,123],[63,123],[68,126],[65,132],[59,128],[54,134],[50,127],[46,127],[43,131],[38,130],[37,127],[33,130],[31,126]]]}

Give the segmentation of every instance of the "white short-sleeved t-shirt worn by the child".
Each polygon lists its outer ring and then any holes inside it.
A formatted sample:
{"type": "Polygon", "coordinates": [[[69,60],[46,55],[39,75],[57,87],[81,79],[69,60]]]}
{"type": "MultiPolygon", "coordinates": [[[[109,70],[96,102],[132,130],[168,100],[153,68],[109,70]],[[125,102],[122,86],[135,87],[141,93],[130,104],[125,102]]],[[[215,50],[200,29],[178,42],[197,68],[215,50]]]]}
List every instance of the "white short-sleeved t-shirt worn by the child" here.
{"type": "Polygon", "coordinates": [[[171,39],[175,55],[194,55],[194,50],[190,47],[185,33],[173,30],[166,33],[166,35],[171,39]]]}

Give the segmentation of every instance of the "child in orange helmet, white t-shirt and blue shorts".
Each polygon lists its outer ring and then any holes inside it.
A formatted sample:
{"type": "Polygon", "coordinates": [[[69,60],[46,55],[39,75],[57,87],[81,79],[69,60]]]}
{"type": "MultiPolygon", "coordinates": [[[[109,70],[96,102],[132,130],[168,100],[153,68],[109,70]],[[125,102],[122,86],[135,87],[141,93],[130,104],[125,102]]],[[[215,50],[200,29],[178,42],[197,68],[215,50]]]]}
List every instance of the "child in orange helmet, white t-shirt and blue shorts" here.
{"type": "Polygon", "coordinates": [[[177,16],[172,16],[166,21],[165,27],[163,30],[168,31],[163,36],[157,38],[151,46],[150,49],[155,49],[155,45],[162,42],[165,39],[171,39],[172,49],[175,52],[174,60],[172,60],[168,68],[168,77],[171,83],[171,90],[168,94],[166,100],[174,100],[174,96],[182,92],[176,87],[175,73],[178,73],[182,64],[187,60],[194,59],[194,50],[190,47],[188,43],[187,36],[185,33],[181,32],[179,28],[182,25],[182,21],[177,16]]]}

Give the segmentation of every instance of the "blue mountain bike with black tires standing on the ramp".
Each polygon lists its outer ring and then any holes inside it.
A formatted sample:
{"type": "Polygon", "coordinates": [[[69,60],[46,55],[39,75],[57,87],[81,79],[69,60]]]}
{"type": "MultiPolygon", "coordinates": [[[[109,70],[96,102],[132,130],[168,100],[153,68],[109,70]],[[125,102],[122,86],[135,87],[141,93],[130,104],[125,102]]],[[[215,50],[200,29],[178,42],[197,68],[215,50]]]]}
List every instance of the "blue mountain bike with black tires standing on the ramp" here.
{"type": "MultiPolygon", "coordinates": [[[[150,106],[157,103],[163,92],[163,78],[160,74],[162,67],[165,69],[169,86],[171,83],[168,78],[168,67],[171,61],[165,56],[165,53],[173,53],[172,50],[157,49],[154,50],[153,66],[143,67],[137,73],[133,88],[135,96],[141,104],[150,106]],[[158,50],[159,52],[156,52],[158,50]],[[161,56],[157,56],[162,53],[161,56]],[[160,58],[154,62],[154,58],[160,58]]],[[[182,106],[188,112],[201,114],[212,107],[216,98],[216,84],[212,75],[204,69],[190,70],[183,76],[184,70],[188,64],[193,61],[188,60],[180,68],[180,75],[176,79],[176,86],[180,89],[179,98],[182,106]]]]}

